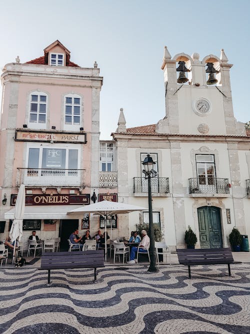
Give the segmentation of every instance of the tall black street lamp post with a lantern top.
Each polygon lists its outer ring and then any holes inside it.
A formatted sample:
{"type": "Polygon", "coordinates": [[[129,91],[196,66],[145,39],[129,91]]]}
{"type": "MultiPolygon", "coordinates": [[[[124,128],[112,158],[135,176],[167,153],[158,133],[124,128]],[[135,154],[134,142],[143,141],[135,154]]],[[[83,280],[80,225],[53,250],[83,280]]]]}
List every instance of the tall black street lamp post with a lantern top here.
{"type": "Polygon", "coordinates": [[[145,179],[147,179],[148,185],[148,218],[149,218],[149,238],[150,238],[150,246],[149,246],[149,256],[150,256],[150,265],[147,271],[157,271],[156,262],[155,262],[155,250],[154,250],[154,234],[153,234],[153,213],[152,213],[152,193],[151,193],[151,178],[157,176],[157,172],[153,170],[153,165],[155,162],[152,157],[147,154],[145,159],[142,162],[144,169],[142,173],[145,175],[145,179]]]}

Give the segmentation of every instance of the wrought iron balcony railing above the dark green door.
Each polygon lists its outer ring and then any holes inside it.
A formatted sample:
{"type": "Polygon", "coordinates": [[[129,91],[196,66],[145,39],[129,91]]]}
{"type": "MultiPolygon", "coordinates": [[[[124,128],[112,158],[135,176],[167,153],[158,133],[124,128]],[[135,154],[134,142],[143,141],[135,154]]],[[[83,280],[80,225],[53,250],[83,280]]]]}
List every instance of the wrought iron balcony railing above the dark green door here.
{"type": "Polygon", "coordinates": [[[188,179],[189,194],[229,194],[228,179],[203,177],[188,179]]]}

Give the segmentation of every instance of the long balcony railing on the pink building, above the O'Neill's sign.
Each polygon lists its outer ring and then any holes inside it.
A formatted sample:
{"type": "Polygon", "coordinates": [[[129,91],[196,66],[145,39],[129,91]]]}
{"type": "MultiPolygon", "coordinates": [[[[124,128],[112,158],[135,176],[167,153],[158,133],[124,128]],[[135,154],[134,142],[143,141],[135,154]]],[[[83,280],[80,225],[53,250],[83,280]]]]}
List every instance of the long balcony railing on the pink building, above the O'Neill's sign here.
{"type": "Polygon", "coordinates": [[[84,187],[84,169],[17,168],[16,186],[84,187]]]}

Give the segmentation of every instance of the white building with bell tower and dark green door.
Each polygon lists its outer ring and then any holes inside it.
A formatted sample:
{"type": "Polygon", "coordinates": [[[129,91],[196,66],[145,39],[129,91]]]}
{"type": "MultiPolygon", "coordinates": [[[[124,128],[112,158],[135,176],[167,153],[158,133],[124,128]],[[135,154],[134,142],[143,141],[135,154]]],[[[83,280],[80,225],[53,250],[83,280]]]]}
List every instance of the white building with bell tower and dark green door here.
{"type": "MultiPolygon", "coordinates": [[[[147,207],[141,162],[149,153],[158,173],[152,179],[153,220],[173,249],[184,247],[188,225],[196,232],[196,247],[202,248],[226,247],[233,226],[250,235],[250,137],[233,116],[231,67],[223,50],[220,58],[199,60],[197,53],[171,57],[165,47],[165,117],[126,129],[121,110],[112,133],[119,201],[147,207]],[[176,67],[182,71],[176,73],[176,67]]],[[[134,230],[147,219],[147,212],[129,214],[126,226],[134,230]]]]}

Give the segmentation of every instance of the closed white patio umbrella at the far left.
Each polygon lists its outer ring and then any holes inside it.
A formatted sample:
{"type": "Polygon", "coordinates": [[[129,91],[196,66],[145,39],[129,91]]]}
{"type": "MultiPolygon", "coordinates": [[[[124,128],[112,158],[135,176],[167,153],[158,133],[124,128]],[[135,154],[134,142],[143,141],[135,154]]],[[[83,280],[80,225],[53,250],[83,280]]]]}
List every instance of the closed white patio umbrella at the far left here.
{"type": "Polygon", "coordinates": [[[22,219],[24,215],[24,208],[25,208],[25,187],[24,184],[21,184],[15,202],[14,220],[12,222],[11,229],[9,232],[9,237],[11,238],[11,242],[14,241],[12,263],[14,261],[16,239],[18,238],[20,241],[22,236],[22,219]]]}

